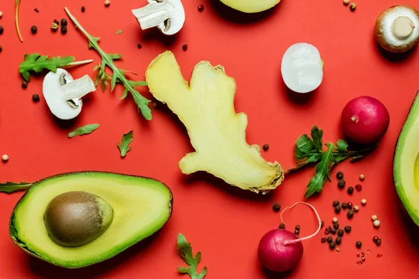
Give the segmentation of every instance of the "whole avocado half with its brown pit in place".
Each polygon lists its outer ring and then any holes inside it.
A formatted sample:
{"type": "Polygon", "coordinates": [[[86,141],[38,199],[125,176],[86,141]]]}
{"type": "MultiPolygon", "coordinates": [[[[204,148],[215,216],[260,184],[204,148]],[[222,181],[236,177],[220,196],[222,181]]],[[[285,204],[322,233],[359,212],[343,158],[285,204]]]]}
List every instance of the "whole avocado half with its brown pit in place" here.
{"type": "Polygon", "coordinates": [[[78,269],[102,262],[157,232],[172,214],[172,192],[155,179],[73,172],[34,183],[10,217],[25,252],[78,269]]]}

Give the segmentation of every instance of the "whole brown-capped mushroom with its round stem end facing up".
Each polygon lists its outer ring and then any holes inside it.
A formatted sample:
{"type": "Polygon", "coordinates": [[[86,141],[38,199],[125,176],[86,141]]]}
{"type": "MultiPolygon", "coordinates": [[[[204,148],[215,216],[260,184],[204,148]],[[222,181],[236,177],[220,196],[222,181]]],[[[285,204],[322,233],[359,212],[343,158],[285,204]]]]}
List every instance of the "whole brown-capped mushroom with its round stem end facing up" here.
{"type": "Polygon", "coordinates": [[[374,35],[378,45],[393,53],[411,50],[419,40],[419,10],[392,6],[376,19],[374,35]]]}

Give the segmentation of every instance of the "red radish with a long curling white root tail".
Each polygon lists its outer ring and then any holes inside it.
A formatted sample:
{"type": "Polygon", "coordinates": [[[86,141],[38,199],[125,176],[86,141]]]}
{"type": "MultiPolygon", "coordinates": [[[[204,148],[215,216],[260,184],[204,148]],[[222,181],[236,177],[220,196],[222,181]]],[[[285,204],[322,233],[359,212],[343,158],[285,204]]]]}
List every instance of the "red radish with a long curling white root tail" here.
{"type": "MultiPolygon", "coordinates": [[[[272,229],[267,232],[262,239],[260,239],[258,258],[260,263],[270,271],[288,271],[297,266],[302,258],[302,252],[304,251],[301,241],[315,236],[320,231],[320,216],[318,216],[316,209],[310,204],[297,202],[286,209],[292,209],[297,204],[306,204],[314,210],[318,218],[318,229],[314,234],[302,237],[301,239],[286,229],[272,229]]],[[[284,211],[286,211],[286,209],[284,209],[284,211]]],[[[281,220],[284,211],[281,213],[281,220]]]]}

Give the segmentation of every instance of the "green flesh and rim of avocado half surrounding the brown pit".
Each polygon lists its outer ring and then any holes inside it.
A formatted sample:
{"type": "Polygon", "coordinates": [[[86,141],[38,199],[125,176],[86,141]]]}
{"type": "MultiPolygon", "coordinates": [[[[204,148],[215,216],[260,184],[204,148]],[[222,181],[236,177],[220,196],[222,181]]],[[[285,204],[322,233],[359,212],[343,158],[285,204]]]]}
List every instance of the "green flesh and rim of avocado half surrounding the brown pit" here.
{"type": "MultiPolygon", "coordinates": [[[[109,259],[151,236],[163,227],[171,213],[172,193],[159,181],[108,172],[74,172],[34,183],[16,204],[9,229],[13,241],[29,254],[57,266],[77,269],[109,259]],[[94,236],[88,243],[61,246],[48,234],[45,211],[57,196],[73,191],[98,197],[93,199],[98,201],[98,216],[103,217],[99,220],[104,224],[99,224],[103,227],[96,229],[96,235],[88,235],[94,236]]],[[[54,218],[50,222],[54,223],[54,218]]]]}

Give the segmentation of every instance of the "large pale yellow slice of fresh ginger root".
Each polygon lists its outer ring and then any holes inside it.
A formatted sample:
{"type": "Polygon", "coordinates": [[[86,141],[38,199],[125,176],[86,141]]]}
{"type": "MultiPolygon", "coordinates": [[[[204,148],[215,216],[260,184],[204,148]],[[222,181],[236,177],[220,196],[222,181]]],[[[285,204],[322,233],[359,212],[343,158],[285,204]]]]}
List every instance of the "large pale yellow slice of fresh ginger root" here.
{"type": "Polygon", "coordinates": [[[179,162],[184,174],[205,171],[256,193],[267,193],[281,184],[281,165],[264,160],[260,146],[247,144],[247,115],[236,114],[235,80],[222,66],[201,61],[189,86],[175,56],[167,51],[150,63],[145,76],[154,98],[166,103],[184,123],[196,150],[179,162]]]}

